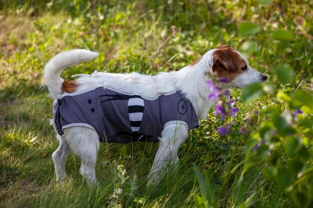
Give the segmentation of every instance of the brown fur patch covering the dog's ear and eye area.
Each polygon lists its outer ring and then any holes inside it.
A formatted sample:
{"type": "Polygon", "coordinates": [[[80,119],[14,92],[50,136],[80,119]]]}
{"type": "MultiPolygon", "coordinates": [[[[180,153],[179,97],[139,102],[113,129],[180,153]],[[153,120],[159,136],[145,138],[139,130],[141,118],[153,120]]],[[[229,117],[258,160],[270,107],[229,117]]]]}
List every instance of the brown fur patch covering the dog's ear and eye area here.
{"type": "Polygon", "coordinates": [[[213,72],[217,72],[218,76],[226,78],[226,82],[231,82],[239,74],[243,73],[246,68],[246,61],[243,60],[238,53],[233,51],[229,45],[221,45],[216,47],[213,52],[213,72]]]}

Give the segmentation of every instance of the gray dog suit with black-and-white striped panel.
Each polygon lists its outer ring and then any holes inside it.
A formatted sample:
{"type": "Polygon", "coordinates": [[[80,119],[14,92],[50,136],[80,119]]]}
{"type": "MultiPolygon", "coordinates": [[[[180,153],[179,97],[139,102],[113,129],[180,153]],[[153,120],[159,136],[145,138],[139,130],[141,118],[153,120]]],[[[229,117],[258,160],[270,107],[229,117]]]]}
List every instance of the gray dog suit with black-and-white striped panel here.
{"type": "Polygon", "coordinates": [[[96,131],[101,142],[158,142],[168,124],[184,125],[187,130],[199,126],[193,105],[179,92],[148,98],[93,87],[57,98],[53,120],[59,135],[65,128],[84,126],[96,131]]]}

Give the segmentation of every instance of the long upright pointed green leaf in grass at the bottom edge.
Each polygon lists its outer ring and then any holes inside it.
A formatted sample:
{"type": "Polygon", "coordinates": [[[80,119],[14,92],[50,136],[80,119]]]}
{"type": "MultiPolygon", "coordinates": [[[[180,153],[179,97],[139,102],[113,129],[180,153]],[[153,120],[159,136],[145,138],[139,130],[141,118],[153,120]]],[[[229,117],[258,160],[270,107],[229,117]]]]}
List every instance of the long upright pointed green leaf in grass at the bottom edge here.
{"type": "Polygon", "coordinates": [[[208,180],[207,174],[205,175],[205,179],[204,179],[200,170],[195,164],[193,164],[193,169],[195,171],[196,179],[198,181],[202,196],[208,202],[209,205],[216,206],[216,198],[214,195],[214,189],[208,180]]]}

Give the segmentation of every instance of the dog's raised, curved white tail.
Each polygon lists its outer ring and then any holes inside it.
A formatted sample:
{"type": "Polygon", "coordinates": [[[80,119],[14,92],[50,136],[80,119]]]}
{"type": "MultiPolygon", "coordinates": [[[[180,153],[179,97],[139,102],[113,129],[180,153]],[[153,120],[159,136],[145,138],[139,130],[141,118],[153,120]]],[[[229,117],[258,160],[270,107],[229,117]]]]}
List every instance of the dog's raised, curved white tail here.
{"type": "Polygon", "coordinates": [[[62,94],[63,79],[60,77],[64,68],[86,62],[97,57],[99,53],[85,49],[67,50],[55,55],[44,67],[44,82],[53,97],[62,94]]]}

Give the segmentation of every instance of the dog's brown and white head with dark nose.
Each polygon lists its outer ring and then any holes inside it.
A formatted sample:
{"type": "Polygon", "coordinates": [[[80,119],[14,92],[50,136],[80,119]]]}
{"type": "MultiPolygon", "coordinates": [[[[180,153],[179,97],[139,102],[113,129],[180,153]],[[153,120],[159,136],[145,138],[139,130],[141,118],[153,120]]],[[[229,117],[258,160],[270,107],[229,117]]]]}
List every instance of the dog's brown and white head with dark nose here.
{"type": "Polygon", "coordinates": [[[263,82],[267,79],[258,71],[252,69],[247,60],[229,45],[216,47],[212,52],[212,71],[220,78],[226,79],[231,87],[242,88],[254,82],[263,82]]]}

